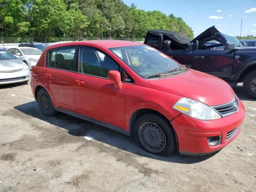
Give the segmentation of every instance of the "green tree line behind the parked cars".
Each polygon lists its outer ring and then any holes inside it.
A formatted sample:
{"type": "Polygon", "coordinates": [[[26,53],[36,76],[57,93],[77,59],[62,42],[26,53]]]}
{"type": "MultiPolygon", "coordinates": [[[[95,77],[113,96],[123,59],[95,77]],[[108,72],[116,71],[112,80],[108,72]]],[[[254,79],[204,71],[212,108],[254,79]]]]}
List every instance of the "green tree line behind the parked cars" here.
{"type": "Polygon", "coordinates": [[[121,0],[0,0],[2,37],[34,37],[39,42],[65,37],[144,40],[149,29],[194,36],[180,17],[146,12],[121,0]]]}

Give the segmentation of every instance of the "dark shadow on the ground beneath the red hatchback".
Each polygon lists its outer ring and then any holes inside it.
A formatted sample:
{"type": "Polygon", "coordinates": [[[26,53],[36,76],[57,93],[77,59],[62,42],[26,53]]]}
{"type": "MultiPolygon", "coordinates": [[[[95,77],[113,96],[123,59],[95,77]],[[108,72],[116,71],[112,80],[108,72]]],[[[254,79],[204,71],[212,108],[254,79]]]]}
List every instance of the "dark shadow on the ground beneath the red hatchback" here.
{"type": "Polygon", "coordinates": [[[156,156],[140,149],[136,145],[133,137],[125,136],[113,130],[109,130],[108,128],[98,126],[91,122],[87,122],[63,113],[58,113],[55,116],[50,117],[44,116],[40,112],[36,101],[25,103],[14,108],[28,116],[32,116],[39,120],[49,122],[52,125],[64,128],[68,130],[68,133],[70,135],[77,137],[84,137],[86,135],[90,135],[94,137],[95,140],[104,142],[105,144],[108,144],[110,146],[114,146],[121,150],[125,150],[127,152],[131,152],[134,154],[138,154],[140,156],[145,156],[156,160],[175,162],[181,164],[193,164],[211,158],[216,153],[218,153],[215,152],[204,156],[185,156],[180,155],[178,154],[178,152],[176,152],[175,154],[169,157],[156,156]]]}

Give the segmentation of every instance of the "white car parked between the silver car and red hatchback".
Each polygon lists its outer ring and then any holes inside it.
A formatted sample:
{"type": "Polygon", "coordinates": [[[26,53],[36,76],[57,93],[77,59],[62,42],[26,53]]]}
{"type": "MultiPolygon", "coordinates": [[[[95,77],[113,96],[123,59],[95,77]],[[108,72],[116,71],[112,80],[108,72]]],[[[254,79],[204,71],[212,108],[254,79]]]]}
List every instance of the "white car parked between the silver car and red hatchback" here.
{"type": "Polygon", "coordinates": [[[8,51],[20,58],[30,69],[36,65],[43,53],[41,50],[32,47],[10,48],[8,51]]]}

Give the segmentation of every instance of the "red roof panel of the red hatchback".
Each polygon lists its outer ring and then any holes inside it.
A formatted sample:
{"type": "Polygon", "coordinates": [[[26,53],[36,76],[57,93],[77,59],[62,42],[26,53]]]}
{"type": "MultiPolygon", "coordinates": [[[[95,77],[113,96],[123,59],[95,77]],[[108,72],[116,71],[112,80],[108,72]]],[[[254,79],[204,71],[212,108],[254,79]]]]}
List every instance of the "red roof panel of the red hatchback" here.
{"type": "Polygon", "coordinates": [[[143,44],[138,43],[138,42],[122,41],[122,40],[88,40],[88,41],[76,41],[76,42],[59,43],[59,44],[54,44],[52,46],[59,47],[59,46],[69,46],[69,45],[74,45],[74,44],[82,45],[83,43],[98,44],[98,45],[104,46],[106,48],[143,45],[143,44]]]}

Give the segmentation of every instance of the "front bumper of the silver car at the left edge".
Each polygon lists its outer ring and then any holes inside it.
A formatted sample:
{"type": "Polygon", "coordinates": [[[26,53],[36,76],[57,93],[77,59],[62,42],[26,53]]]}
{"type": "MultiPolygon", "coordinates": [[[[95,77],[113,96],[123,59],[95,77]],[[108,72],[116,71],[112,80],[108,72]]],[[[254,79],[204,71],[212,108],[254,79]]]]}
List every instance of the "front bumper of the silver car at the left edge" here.
{"type": "Polygon", "coordinates": [[[31,79],[30,69],[0,73],[0,85],[26,82],[31,79]]]}

